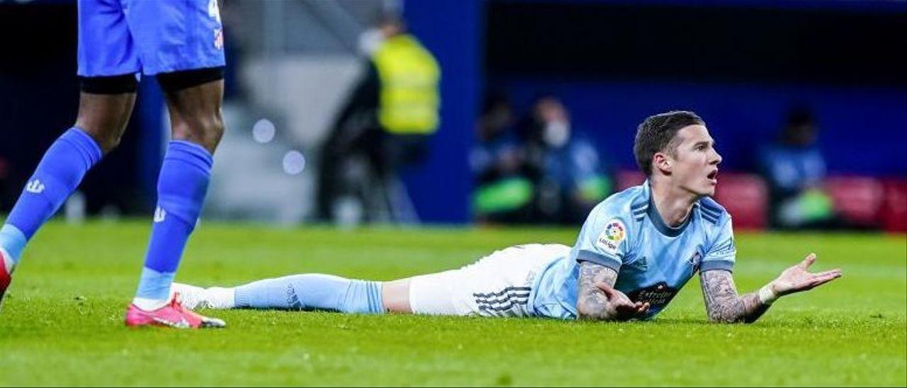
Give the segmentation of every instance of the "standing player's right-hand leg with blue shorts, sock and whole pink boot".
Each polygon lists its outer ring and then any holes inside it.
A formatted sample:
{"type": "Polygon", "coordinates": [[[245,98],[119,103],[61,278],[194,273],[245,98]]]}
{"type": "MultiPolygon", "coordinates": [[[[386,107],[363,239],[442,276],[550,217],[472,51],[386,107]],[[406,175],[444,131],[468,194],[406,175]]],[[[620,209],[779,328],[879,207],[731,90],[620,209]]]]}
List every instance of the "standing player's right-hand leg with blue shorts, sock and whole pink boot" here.
{"type": "Polygon", "coordinates": [[[158,177],[158,200],[139,286],[126,325],[221,327],[171,298],[173,276],[208,190],[223,133],[223,30],[217,0],[130,1],[125,13],[142,73],[167,100],[172,141],[158,177]]]}

